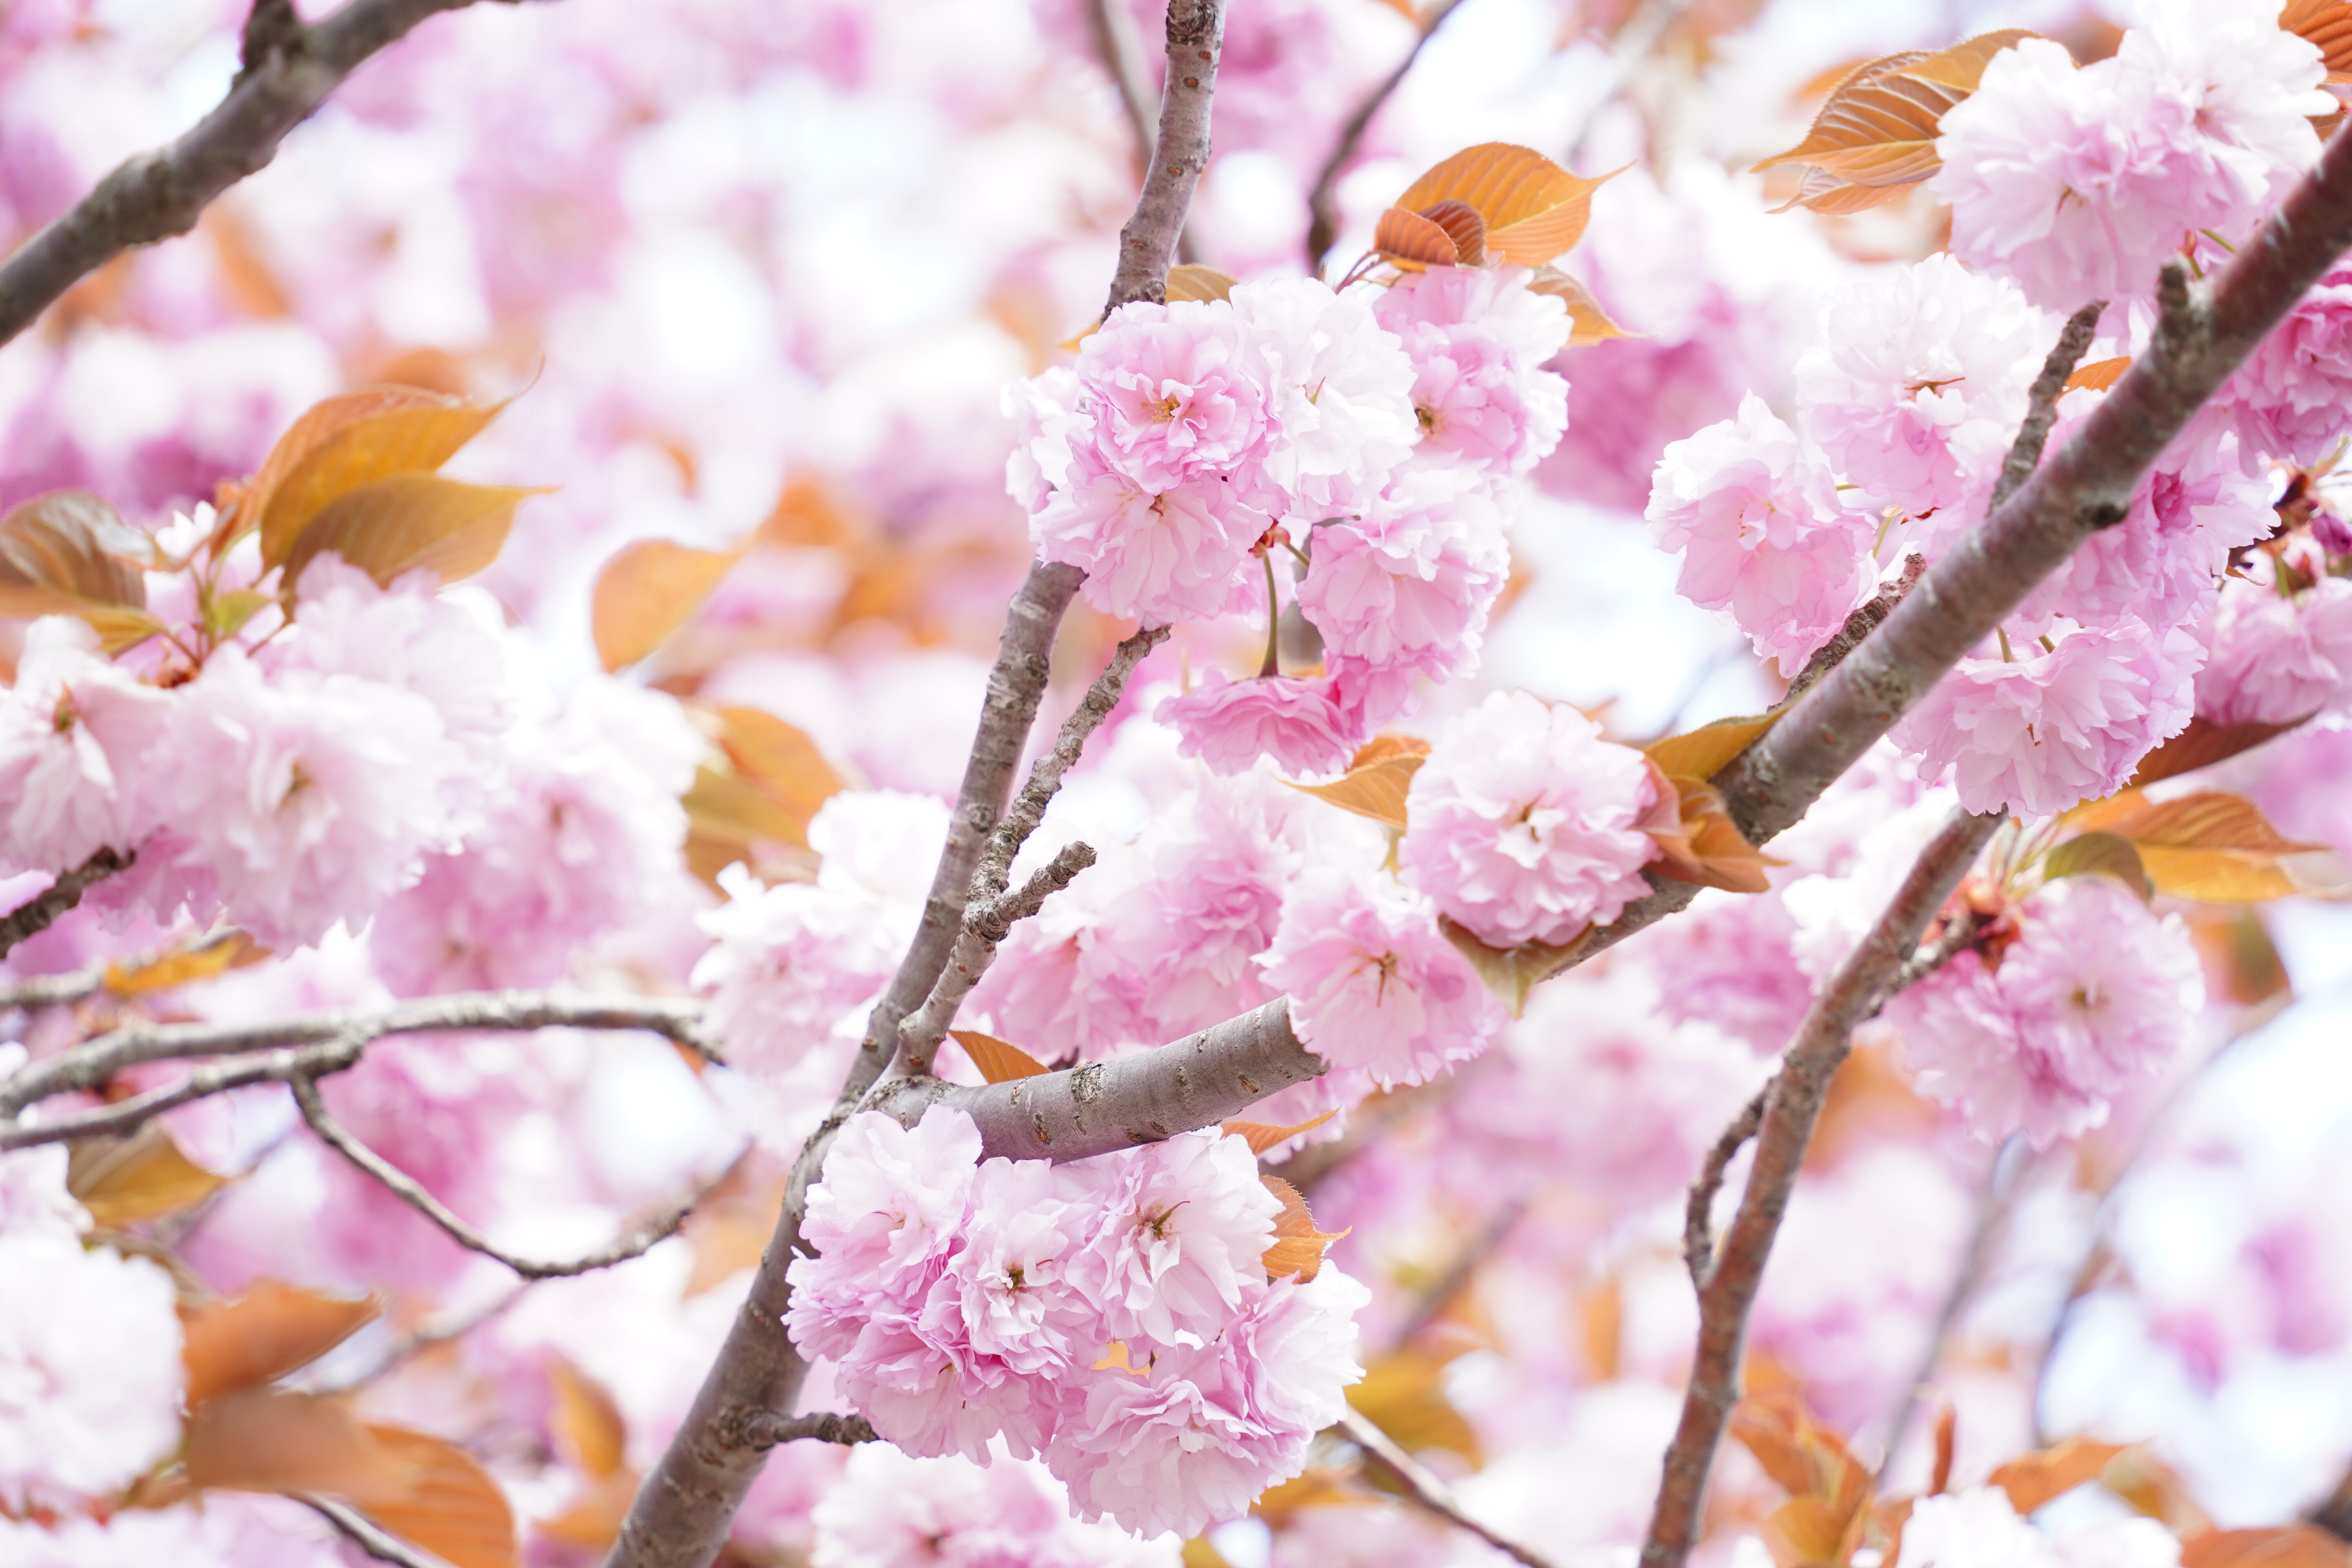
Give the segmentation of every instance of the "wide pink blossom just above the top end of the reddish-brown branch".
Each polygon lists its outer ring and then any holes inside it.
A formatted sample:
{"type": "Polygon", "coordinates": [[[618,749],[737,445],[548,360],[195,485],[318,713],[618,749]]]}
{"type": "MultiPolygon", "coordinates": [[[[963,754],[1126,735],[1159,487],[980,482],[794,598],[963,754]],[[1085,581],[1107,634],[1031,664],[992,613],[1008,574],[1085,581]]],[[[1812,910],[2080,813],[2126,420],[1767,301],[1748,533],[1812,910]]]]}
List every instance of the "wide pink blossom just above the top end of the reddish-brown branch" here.
{"type": "Polygon", "coordinates": [[[2204,649],[2190,632],[2053,623],[2049,646],[1962,658],[1891,738],[1922,771],[1952,771],[1969,811],[2053,816],[2112,795],[2154,745],[2190,722],[2204,649]]]}

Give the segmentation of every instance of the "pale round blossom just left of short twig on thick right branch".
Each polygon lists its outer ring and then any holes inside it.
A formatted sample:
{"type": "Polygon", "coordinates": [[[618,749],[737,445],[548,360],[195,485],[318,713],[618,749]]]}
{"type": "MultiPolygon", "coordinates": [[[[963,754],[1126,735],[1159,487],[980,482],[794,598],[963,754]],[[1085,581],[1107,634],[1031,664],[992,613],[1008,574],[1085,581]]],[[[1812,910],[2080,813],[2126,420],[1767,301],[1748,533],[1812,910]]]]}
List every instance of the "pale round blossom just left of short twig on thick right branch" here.
{"type": "Polygon", "coordinates": [[[1877,505],[1971,524],[2056,336],[2004,277],[1938,254],[1849,284],[1797,360],[1804,425],[1877,505]]]}

